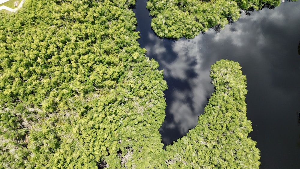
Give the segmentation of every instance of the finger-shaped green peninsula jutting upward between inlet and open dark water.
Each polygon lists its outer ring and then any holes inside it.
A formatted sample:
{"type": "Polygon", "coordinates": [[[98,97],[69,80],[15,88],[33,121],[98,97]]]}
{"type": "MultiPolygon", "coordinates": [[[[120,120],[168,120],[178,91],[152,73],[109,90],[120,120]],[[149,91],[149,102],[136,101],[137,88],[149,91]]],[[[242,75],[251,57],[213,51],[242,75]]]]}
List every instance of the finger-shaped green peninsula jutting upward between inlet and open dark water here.
{"type": "Polygon", "coordinates": [[[248,133],[246,77],[237,62],[220,60],[211,66],[215,86],[187,136],[166,147],[168,168],[259,168],[259,150],[248,133]]]}

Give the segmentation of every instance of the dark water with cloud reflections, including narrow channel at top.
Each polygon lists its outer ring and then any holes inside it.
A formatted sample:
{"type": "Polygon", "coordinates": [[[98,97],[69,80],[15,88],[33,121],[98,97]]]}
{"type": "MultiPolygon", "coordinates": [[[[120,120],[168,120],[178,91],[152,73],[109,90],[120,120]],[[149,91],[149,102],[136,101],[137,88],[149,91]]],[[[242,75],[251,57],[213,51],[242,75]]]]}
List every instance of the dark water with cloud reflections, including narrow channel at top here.
{"type": "Polygon", "coordinates": [[[274,10],[242,14],[216,33],[194,39],[160,39],[151,30],[146,0],[134,12],[141,47],[164,70],[169,89],[165,122],[160,129],[170,144],[193,128],[214,91],[210,65],[220,59],[240,63],[247,77],[249,134],[261,150],[261,168],[300,168],[300,2],[284,2],[274,10]]]}

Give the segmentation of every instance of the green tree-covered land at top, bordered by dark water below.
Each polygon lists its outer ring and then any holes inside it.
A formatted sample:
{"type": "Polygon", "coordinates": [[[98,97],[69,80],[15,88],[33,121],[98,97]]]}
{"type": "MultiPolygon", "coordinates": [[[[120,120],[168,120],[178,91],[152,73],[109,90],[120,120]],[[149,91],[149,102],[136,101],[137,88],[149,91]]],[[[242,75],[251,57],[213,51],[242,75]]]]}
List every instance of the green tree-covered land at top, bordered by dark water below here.
{"type": "Polygon", "coordinates": [[[194,38],[216,26],[224,27],[240,17],[240,9],[274,8],[280,0],[149,0],[151,27],[162,38],[194,38]]]}

